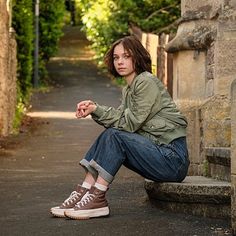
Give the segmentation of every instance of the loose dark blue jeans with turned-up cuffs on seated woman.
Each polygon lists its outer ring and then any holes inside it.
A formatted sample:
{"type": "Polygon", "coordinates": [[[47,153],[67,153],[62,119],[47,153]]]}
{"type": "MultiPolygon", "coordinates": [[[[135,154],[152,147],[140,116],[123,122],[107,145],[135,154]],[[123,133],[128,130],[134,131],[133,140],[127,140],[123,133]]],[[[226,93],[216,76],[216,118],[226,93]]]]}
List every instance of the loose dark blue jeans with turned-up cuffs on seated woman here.
{"type": "Polygon", "coordinates": [[[94,178],[111,183],[121,165],[157,182],[181,182],[187,175],[189,159],[186,138],[157,145],[149,139],[114,128],[106,129],[80,164],[94,178]]]}

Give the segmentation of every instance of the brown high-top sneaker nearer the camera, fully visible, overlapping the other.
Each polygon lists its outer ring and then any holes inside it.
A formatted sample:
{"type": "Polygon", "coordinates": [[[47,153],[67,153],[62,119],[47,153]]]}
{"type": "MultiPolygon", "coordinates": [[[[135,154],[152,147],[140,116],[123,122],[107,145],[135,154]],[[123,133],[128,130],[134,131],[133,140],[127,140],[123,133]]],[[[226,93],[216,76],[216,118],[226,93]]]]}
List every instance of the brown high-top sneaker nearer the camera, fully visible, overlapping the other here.
{"type": "Polygon", "coordinates": [[[88,195],[78,202],[74,209],[65,211],[65,216],[72,219],[89,219],[109,215],[109,207],[105,198],[106,192],[92,187],[88,195]]]}

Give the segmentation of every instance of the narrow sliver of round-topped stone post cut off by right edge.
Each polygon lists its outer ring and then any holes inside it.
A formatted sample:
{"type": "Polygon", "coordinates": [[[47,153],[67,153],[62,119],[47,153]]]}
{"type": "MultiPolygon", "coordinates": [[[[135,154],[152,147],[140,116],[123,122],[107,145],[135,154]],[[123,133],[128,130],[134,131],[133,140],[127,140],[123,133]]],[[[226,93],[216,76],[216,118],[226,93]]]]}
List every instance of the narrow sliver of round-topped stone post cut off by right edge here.
{"type": "Polygon", "coordinates": [[[236,235],[236,80],[231,86],[231,222],[236,235]]]}

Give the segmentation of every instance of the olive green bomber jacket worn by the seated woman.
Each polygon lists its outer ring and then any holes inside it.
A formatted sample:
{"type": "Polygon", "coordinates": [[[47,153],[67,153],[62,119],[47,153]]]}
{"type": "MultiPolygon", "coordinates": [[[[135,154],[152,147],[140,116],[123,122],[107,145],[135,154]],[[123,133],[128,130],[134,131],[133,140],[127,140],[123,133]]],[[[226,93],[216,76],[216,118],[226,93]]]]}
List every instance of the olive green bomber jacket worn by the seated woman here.
{"type": "Polygon", "coordinates": [[[186,136],[186,118],[163,83],[149,72],[139,74],[123,88],[117,109],[96,105],[92,118],[106,128],[138,133],[156,144],[168,144],[186,136]]]}

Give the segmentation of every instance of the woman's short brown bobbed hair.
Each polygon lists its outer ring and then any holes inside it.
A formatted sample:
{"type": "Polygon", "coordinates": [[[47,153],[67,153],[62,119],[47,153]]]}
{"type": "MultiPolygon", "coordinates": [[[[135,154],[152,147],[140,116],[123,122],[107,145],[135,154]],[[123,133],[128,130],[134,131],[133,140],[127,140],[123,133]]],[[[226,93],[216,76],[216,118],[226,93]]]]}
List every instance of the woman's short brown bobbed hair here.
{"type": "Polygon", "coordinates": [[[117,73],[114,62],[113,62],[113,53],[114,48],[118,45],[122,44],[124,49],[130,53],[133,63],[134,70],[136,74],[140,74],[144,71],[151,72],[151,57],[148,51],[143,47],[139,39],[135,36],[125,36],[114,42],[111,48],[108,50],[104,57],[104,62],[107,65],[108,71],[115,77],[119,77],[120,75],[117,73]]]}

